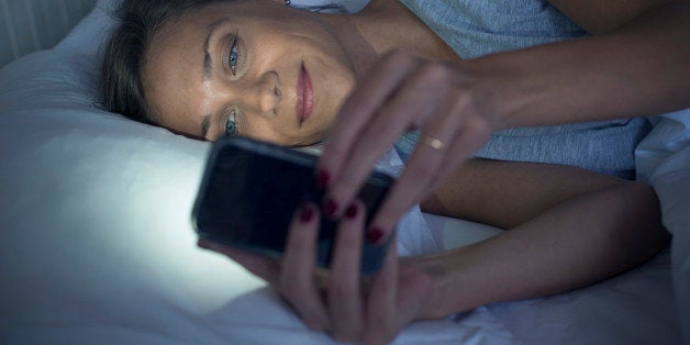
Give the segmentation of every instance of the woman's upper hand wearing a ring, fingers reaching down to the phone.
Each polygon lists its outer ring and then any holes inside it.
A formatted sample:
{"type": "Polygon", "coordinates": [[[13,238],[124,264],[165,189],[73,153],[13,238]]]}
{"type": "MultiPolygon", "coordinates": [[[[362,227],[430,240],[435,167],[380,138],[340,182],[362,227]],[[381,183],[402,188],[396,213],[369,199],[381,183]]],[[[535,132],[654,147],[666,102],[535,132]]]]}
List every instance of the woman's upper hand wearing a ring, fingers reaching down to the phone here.
{"type": "Polygon", "coordinates": [[[370,224],[367,238],[382,243],[410,207],[486,143],[496,112],[477,96],[486,89],[477,80],[457,62],[385,56],[343,105],[319,162],[326,214],[340,218],[381,155],[401,134],[421,130],[405,170],[370,224]]]}

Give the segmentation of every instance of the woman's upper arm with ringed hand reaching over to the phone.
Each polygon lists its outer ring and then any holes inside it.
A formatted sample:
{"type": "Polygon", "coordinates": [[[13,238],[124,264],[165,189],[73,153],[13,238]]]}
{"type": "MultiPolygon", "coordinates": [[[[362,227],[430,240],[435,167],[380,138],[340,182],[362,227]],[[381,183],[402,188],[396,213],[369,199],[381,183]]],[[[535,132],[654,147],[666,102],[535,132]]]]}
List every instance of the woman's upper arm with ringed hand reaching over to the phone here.
{"type": "Polygon", "coordinates": [[[381,241],[492,131],[690,107],[690,1],[600,2],[554,1],[592,37],[458,63],[383,57],[343,105],[320,159],[331,213],[343,213],[410,129],[422,131],[420,144],[371,222],[381,241]]]}

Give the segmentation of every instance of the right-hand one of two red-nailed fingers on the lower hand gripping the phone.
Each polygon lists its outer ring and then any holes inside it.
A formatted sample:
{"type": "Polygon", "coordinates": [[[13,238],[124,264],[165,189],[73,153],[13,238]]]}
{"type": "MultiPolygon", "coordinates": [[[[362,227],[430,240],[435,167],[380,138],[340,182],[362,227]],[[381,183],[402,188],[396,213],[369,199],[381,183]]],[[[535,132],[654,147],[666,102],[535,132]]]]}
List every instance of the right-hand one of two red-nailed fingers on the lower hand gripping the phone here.
{"type": "Polygon", "coordinates": [[[359,282],[365,208],[353,202],[340,223],[327,285],[332,333],[338,341],[358,341],[364,329],[364,299],[359,282]]]}

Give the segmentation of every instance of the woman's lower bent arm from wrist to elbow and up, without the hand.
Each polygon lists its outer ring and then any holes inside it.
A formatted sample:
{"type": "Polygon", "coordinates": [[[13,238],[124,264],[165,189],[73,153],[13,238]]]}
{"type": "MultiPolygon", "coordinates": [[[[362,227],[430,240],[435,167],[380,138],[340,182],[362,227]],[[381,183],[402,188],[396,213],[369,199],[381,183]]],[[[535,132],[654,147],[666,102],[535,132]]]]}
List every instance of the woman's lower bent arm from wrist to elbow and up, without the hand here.
{"type": "Polygon", "coordinates": [[[433,286],[423,318],[583,287],[669,238],[650,187],[571,167],[470,160],[436,196],[436,211],[512,230],[411,259],[433,286]]]}

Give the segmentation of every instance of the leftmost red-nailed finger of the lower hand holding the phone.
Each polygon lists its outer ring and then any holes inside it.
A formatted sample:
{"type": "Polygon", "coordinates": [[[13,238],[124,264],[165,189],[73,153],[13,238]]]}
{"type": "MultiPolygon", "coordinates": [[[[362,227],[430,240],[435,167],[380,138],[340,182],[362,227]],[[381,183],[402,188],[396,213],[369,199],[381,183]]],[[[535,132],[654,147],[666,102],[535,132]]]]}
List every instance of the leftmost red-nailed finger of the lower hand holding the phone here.
{"type": "Polygon", "coordinates": [[[277,287],[310,329],[329,330],[329,313],[314,275],[319,220],[319,209],[313,203],[294,213],[277,287]]]}

